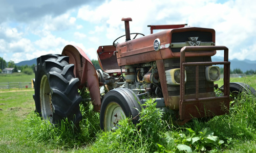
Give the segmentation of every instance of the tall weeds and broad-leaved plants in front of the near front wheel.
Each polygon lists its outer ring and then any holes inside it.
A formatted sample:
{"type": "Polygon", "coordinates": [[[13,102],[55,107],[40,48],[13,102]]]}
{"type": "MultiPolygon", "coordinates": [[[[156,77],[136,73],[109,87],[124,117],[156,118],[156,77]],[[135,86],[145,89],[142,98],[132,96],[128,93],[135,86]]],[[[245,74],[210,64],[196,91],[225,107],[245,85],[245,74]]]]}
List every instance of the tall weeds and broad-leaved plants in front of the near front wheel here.
{"type": "MultiPolygon", "coordinates": [[[[224,143],[209,127],[198,133],[186,127],[176,128],[164,120],[167,117],[163,110],[156,108],[154,100],[142,106],[139,124],[133,125],[131,119],[121,120],[115,132],[100,133],[86,152],[218,151],[224,143]]],[[[172,122],[171,118],[167,119],[172,122]]]]}

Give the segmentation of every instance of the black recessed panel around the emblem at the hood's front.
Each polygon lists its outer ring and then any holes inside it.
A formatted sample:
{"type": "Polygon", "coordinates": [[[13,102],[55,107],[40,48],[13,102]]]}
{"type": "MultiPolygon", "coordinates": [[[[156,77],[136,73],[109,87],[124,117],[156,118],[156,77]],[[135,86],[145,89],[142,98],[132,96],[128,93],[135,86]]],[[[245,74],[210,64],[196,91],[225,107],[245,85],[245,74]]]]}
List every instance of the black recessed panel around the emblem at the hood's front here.
{"type": "MultiPolygon", "coordinates": [[[[210,42],[212,41],[212,34],[210,32],[201,31],[187,31],[172,34],[172,43],[189,41],[188,37],[198,37],[197,41],[210,42]]],[[[172,48],[172,52],[180,52],[181,48],[172,48]]]]}

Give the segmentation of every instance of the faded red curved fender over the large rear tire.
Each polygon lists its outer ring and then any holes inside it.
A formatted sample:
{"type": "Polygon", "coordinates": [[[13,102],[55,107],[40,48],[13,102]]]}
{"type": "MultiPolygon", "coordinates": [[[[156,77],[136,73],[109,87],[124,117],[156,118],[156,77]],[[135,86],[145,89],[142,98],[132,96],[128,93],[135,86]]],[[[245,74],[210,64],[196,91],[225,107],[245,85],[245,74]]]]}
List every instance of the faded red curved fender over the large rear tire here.
{"type": "Polygon", "coordinates": [[[98,75],[91,60],[83,50],[75,45],[67,45],[62,55],[69,56],[69,63],[74,64],[75,77],[80,80],[81,87],[88,87],[95,111],[100,111],[101,99],[98,75]]]}

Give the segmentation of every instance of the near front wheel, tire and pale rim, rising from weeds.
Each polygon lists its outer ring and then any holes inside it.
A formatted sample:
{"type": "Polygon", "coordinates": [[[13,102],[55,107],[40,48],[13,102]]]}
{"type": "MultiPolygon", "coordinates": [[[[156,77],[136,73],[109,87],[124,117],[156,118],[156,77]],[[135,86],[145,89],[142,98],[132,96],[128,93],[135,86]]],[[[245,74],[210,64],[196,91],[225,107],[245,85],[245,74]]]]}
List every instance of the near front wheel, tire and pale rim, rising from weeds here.
{"type": "Polygon", "coordinates": [[[133,91],[126,88],[116,88],[108,93],[102,100],[100,109],[100,128],[111,131],[120,119],[131,118],[133,124],[139,120],[141,111],[140,99],[133,91]]]}

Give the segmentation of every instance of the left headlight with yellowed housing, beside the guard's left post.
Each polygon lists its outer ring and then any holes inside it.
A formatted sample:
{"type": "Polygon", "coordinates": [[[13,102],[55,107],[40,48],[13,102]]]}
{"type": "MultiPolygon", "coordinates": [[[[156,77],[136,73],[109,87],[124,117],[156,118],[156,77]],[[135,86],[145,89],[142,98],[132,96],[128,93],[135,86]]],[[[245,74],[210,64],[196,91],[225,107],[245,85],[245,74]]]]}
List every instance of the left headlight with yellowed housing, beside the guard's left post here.
{"type": "MultiPolygon", "coordinates": [[[[166,81],[169,85],[180,85],[180,68],[169,69],[165,71],[166,81]]],[[[185,70],[185,83],[187,80],[185,70]]]]}

